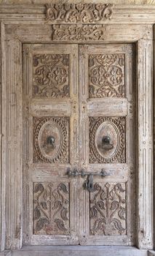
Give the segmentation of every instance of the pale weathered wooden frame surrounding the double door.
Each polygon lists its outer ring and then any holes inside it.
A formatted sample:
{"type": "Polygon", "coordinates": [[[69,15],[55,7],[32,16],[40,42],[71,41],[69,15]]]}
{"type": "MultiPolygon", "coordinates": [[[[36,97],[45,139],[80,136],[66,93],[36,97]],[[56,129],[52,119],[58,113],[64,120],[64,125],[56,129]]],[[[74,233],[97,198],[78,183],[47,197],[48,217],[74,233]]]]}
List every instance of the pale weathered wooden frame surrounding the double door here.
{"type": "MultiPolygon", "coordinates": [[[[1,5],[1,251],[23,245],[23,43],[134,43],[137,78],[139,249],[154,248],[153,61],[155,7],[102,5],[99,20],[59,20],[55,5],[1,5]],[[119,24],[119,26],[118,26],[119,24]],[[76,27],[75,37],[68,28],[76,27]],[[64,32],[66,37],[64,37],[64,32]],[[87,31],[87,32],[84,32],[87,31]],[[91,31],[91,32],[90,32],[91,31]],[[84,35],[85,34],[85,35],[84,35]]],[[[77,7],[71,6],[77,11],[77,7]]],[[[96,8],[96,5],[93,6],[96,8]]],[[[98,7],[99,8],[99,7],[98,7]]]]}

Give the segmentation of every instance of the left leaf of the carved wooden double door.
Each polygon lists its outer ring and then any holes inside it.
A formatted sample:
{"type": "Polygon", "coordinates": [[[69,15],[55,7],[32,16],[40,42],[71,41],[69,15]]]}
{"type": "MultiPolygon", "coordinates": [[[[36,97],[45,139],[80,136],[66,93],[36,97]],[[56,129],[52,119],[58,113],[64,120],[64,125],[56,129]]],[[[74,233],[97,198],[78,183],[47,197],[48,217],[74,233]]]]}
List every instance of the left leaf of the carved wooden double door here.
{"type": "Polygon", "coordinates": [[[78,45],[23,45],[24,243],[76,243],[78,45]]]}

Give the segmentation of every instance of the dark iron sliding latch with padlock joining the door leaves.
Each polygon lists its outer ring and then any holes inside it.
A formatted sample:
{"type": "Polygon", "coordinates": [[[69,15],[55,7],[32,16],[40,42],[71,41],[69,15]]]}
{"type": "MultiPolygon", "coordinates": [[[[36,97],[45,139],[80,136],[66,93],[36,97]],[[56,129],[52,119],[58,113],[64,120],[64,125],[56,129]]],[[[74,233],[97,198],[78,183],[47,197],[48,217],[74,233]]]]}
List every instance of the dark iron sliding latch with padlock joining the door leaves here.
{"type": "Polygon", "coordinates": [[[94,184],[93,184],[93,178],[94,176],[101,176],[102,178],[106,176],[112,175],[111,171],[107,172],[106,170],[102,169],[100,173],[88,173],[85,172],[83,169],[79,172],[77,169],[71,170],[68,168],[67,173],[68,177],[75,178],[76,176],[81,176],[82,178],[87,176],[87,180],[84,181],[84,189],[87,189],[89,192],[94,191],[94,184]]]}

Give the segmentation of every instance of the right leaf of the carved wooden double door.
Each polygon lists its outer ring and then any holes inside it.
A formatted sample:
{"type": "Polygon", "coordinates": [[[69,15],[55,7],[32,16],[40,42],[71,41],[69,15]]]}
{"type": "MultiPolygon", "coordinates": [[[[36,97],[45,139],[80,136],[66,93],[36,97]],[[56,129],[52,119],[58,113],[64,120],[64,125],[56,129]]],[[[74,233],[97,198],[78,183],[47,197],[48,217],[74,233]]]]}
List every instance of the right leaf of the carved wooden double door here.
{"type": "Polygon", "coordinates": [[[79,192],[83,244],[135,241],[133,60],[133,45],[79,48],[79,162],[101,175],[79,192]]]}

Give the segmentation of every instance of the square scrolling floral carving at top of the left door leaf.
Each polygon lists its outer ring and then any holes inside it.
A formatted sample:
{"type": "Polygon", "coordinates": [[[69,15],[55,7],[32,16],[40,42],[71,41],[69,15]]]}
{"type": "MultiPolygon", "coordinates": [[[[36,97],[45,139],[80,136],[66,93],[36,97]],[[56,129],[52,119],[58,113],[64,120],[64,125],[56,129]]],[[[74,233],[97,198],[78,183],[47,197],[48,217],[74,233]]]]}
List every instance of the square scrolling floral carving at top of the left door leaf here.
{"type": "Polygon", "coordinates": [[[33,56],[33,97],[68,97],[67,54],[33,56]]]}

